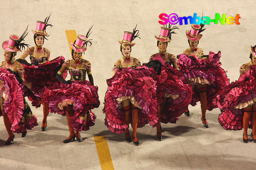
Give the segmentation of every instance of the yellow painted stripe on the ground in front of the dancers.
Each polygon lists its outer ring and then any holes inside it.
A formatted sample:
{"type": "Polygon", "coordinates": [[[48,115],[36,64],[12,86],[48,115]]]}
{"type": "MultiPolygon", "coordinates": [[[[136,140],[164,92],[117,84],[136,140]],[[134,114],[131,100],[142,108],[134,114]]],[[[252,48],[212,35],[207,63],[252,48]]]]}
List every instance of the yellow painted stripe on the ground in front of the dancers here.
{"type": "Polygon", "coordinates": [[[106,136],[94,136],[102,170],[114,169],[106,136]]]}

